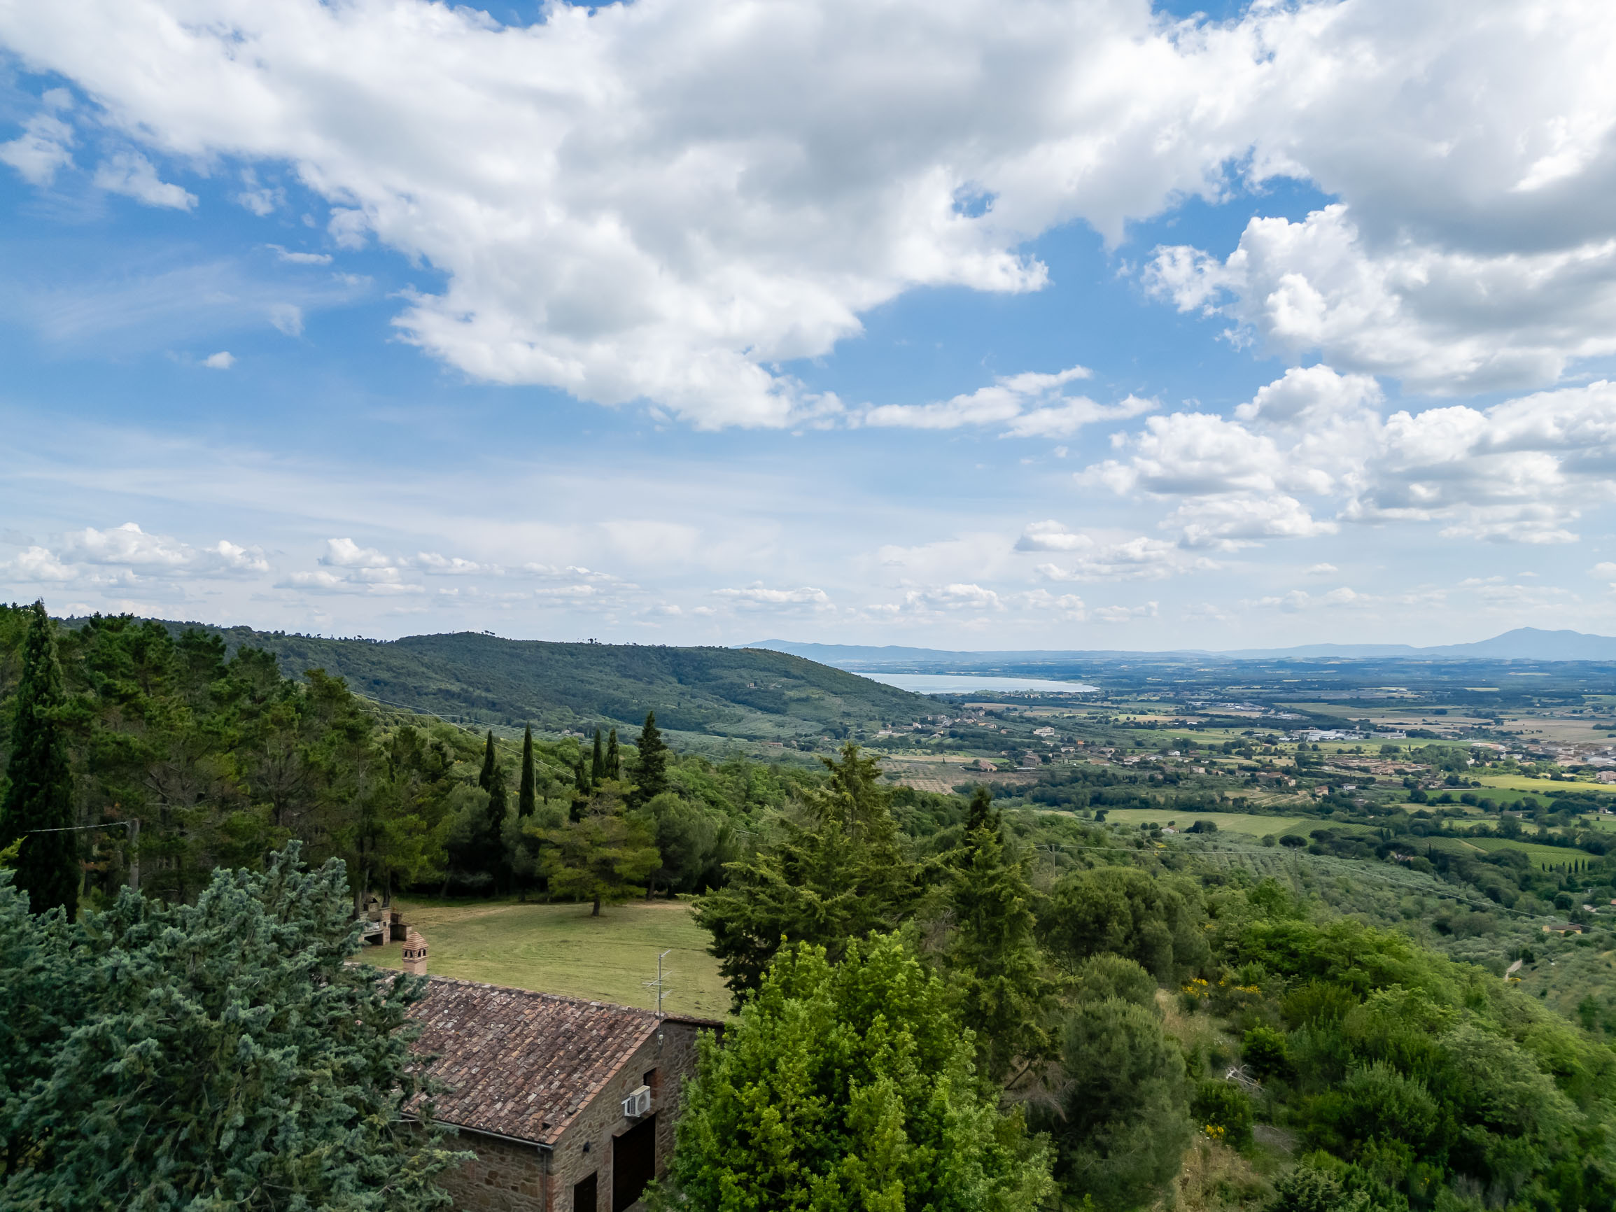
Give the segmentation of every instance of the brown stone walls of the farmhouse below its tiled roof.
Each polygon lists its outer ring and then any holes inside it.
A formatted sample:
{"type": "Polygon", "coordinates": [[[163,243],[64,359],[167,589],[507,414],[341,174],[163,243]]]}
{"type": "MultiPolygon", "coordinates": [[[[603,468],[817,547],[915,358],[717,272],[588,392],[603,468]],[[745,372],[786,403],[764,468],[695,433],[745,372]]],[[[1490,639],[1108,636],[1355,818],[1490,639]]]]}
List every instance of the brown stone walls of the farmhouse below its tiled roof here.
{"type": "MultiPolygon", "coordinates": [[[[656,1071],[651,1110],[656,1113],[656,1173],[661,1176],[674,1155],[680,1084],[696,1071],[698,1029],[690,1023],[663,1023],[661,1042],[653,1033],[567,1125],[556,1141],[548,1175],[545,1154],[537,1146],[462,1133],[459,1147],[475,1151],[477,1160],[440,1180],[454,1197],[454,1207],[459,1212],[579,1212],[572,1207],[572,1188],[595,1173],[596,1212],[611,1212],[612,1139],[637,1123],[624,1118],[622,1100],[651,1070],[656,1071]]],[[[643,1204],[632,1207],[638,1212],[643,1204]]]]}

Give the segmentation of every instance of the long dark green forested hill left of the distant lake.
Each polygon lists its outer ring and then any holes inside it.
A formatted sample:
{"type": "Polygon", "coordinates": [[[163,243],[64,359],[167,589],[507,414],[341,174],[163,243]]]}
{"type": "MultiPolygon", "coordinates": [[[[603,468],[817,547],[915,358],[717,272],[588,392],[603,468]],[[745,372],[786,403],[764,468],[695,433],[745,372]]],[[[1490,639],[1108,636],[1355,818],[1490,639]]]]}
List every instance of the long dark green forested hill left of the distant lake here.
{"type": "Polygon", "coordinates": [[[478,726],[638,726],[654,709],[664,729],[792,740],[844,737],[939,709],[923,695],[756,648],[548,643],[482,632],[322,640],[247,627],[165,625],[175,635],[186,627],[217,633],[231,651],[265,648],[288,674],[325,669],[360,695],[478,726]]]}

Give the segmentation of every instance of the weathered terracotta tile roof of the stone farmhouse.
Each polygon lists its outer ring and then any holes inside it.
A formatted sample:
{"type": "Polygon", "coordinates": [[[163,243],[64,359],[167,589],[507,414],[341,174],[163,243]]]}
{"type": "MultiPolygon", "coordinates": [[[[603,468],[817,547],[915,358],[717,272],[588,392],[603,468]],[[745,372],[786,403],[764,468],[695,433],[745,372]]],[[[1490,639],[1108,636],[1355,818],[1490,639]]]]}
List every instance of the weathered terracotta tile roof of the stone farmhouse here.
{"type": "Polygon", "coordinates": [[[448,976],[430,978],[409,1013],[422,1023],[415,1047],[438,1054],[431,1075],[449,1088],[436,1117],[537,1144],[556,1143],[658,1021],[650,1010],[448,976]]]}

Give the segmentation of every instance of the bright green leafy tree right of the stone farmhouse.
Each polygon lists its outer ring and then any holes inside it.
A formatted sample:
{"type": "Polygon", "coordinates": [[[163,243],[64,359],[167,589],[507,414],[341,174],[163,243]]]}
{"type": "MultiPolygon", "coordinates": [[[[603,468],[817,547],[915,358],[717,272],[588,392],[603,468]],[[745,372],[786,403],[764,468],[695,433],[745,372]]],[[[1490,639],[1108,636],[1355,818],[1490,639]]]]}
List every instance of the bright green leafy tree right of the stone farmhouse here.
{"type": "Polygon", "coordinates": [[[894,937],[772,962],[703,1037],[659,1199],[701,1212],[1020,1212],[1050,1193],[1020,1112],[973,1071],[939,978],[894,937]]]}

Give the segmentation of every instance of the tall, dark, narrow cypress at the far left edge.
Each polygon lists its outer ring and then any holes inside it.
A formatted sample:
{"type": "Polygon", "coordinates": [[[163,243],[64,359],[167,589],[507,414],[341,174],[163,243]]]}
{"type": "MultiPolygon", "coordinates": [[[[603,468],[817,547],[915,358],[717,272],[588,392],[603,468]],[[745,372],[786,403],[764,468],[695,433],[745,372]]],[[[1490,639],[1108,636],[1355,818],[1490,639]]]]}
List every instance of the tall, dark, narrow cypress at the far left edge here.
{"type": "Polygon", "coordinates": [[[60,907],[71,916],[79,905],[81,871],[78,842],[68,831],[73,824],[68,742],[55,719],[65,701],[55,624],[45,614],[45,603],[36,601],[23,642],[23,677],[11,718],[0,847],[23,840],[15,879],[16,887],[27,892],[34,913],[60,907]]]}

